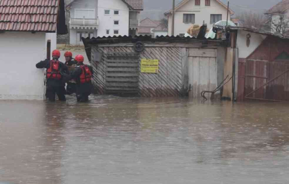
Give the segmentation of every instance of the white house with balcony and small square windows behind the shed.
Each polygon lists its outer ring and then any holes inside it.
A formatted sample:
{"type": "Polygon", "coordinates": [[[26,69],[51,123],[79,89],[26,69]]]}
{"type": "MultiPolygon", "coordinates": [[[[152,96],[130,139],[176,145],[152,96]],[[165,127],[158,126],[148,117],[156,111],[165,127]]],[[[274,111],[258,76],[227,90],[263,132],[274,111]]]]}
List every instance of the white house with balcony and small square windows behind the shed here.
{"type": "Polygon", "coordinates": [[[81,37],[135,35],[143,0],[75,0],[70,11],[70,44],[83,44],[81,37]]]}

